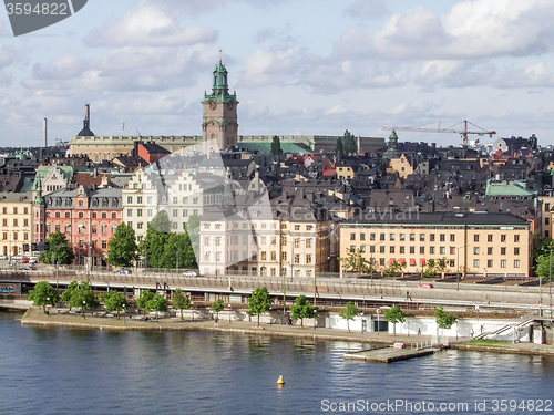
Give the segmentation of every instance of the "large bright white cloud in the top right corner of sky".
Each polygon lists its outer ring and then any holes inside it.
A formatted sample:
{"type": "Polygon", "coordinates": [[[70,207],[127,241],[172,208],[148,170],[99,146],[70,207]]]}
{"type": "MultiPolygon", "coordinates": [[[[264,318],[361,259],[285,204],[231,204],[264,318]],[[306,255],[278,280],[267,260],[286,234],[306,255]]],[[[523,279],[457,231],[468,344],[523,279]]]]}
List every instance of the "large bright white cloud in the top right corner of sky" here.
{"type": "Polygon", "coordinates": [[[474,0],[439,17],[414,8],[392,15],[373,37],[391,59],[468,59],[535,55],[554,50],[550,0],[474,0]]]}

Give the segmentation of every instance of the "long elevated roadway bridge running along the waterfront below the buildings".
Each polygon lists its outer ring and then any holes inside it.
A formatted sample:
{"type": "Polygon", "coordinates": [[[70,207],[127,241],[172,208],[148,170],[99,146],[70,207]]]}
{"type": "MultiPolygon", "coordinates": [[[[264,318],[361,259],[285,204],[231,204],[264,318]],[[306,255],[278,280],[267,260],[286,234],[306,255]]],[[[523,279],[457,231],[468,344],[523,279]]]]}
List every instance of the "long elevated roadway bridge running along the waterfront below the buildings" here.
{"type": "MultiPolygon", "coordinates": [[[[355,301],[358,305],[373,307],[400,304],[408,309],[430,309],[437,305],[456,307],[460,311],[510,310],[515,312],[552,312],[550,287],[522,287],[462,283],[456,290],[452,282],[433,281],[432,289],[418,288],[418,281],[393,279],[355,278],[297,278],[260,276],[198,276],[185,277],[181,272],[158,272],[134,269],[135,272],[114,273],[105,269],[91,272],[74,268],[40,268],[39,270],[0,269],[0,286],[19,287],[20,295],[39,281],[49,281],[64,290],[71,281],[90,280],[95,290],[117,289],[130,297],[137,297],[140,290],[157,290],[171,295],[176,288],[189,292],[193,301],[214,301],[224,298],[229,302],[246,302],[253,290],[267,287],[275,303],[287,303],[304,294],[316,299],[317,305],[343,305],[355,301]]],[[[16,293],[16,292],[14,292],[16,293]]]]}

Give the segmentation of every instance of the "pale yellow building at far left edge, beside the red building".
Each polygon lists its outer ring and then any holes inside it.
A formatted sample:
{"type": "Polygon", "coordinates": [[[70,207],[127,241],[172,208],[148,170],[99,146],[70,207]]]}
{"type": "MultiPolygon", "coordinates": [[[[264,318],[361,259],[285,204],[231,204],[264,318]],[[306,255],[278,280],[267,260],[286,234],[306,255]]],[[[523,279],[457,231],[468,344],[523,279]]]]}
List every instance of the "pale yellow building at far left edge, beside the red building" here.
{"type": "Polygon", "coordinates": [[[11,258],[30,251],[32,196],[31,193],[0,193],[0,255],[11,258]]]}

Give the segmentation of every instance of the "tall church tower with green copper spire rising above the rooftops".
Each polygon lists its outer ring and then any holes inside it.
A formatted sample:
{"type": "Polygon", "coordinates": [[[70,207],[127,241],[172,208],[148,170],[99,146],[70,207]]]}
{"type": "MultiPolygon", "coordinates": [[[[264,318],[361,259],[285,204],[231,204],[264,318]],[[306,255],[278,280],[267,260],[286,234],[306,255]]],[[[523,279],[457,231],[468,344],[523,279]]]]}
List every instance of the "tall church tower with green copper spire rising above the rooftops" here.
{"type": "Polygon", "coordinates": [[[204,93],[202,123],[204,152],[223,152],[237,145],[237,93],[229,95],[227,70],[219,59],[214,70],[212,94],[204,93]],[[215,147],[218,148],[215,148],[215,147]]]}

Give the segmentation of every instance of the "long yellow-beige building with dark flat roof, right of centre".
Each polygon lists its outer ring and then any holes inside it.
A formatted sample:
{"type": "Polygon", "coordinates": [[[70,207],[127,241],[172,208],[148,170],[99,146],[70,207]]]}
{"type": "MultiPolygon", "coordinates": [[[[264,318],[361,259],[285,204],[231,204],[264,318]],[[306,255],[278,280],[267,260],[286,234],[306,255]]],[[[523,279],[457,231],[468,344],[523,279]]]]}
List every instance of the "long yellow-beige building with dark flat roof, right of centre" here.
{"type": "Polygon", "coordinates": [[[397,261],[403,272],[423,272],[430,259],[444,259],[447,272],[527,277],[531,222],[511,214],[362,214],[340,225],[341,257],[358,249],[380,271],[397,261]]]}

